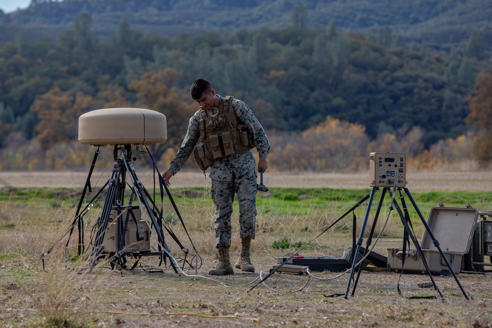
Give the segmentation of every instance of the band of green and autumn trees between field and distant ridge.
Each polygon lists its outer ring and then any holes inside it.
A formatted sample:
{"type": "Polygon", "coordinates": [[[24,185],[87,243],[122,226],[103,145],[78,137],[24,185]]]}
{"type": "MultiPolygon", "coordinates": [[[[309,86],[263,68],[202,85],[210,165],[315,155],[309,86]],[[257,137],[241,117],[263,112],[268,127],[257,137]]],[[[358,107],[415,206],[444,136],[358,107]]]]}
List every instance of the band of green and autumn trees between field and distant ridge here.
{"type": "MultiPolygon", "coordinates": [[[[406,44],[389,28],[340,32],[335,24],[308,28],[305,20],[302,8],[295,8],[285,29],[169,38],[137,32],[123,17],[116,35],[102,41],[91,33],[91,14],[83,12],[58,43],[30,42],[21,33],[0,44],[2,169],[55,168],[46,157],[52,149],[80,150],[73,146],[78,117],[111,107],[165,114],[169,139],[153,151],[167,158],[196,110],[188,88],[198,77],[253,109],[275,141],[272,156],[281,169],[290,155],[290,169],[354,170],[364,165],[368,145],[391,145],[392,138],[413,155],[461,136],[480,138],[482,132],[468,133],[473,115],[465,119],[483,84],[478,80],[474,90],[475,77],[490,71],[483,35],[472,33],[448,54],[406,44]],[[343,165],[347,149],[364,159],[343,165]],[[309,160],[312,153],[316,158],[309,160]],[[25,164],[8,164],[10,158],[25,164]],[[299,158],[307,162],[296,164],[299,158]]],[[[80,165],[68,157],[56,168],[80,165]]]]}

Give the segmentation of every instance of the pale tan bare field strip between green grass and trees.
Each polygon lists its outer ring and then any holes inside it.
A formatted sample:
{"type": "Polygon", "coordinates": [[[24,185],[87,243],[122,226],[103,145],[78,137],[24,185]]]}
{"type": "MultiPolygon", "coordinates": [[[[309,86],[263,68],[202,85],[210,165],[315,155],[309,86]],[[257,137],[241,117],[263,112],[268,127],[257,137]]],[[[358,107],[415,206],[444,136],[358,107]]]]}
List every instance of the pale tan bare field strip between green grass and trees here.
{"type": "MultiPolygon", "coordinates": [[[[111,172],[94,171],[92,184],[102,185],[109,179],[111,172]]],[[[153,173],[139,172],[138,179],[145,186],[151,186],[153,173]]],[[[0,184],[14,187],[68,187],[82,188],[88,172],[0,172],[0,184]]],[[[429,190],[491,190],[492,172],[409,172],[406,177],[407,187],[411,191],[429,190]]],[[[302,187],[302,188],[346,188],[364,189],[369,187],[369,172],[357,174],[342,173],[291,173],[267,171],[264,184],[268,187],[302,187]]],[[[259,181],[259,178],[258,178],[259,181]]],[[[208,187],[210,178],[202,172],[179,172],[171,179],[171,187],[208,187]]]]}

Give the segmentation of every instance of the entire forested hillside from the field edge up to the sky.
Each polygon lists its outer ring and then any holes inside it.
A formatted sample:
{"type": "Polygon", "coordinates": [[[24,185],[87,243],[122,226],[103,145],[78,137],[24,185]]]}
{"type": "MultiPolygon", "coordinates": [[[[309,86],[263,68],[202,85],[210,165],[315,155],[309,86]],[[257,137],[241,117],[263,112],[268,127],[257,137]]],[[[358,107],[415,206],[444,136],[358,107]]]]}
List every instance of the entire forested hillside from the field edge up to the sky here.
{"type": "MultiPolygon", "coordinates": [[[[330,161],[347,155],[350,147],[356,147],[350,169],[364,166],[368,147],[404,148],[413,156],[436,145],[441,152],[458,144],[471,151],[475,130],[465,121],[467,97],[474,96],[475,77],[491,71],[490,31],[477,28],[480,19],[469,19],[460,37],[450,29],[455,36],[436,45],[421,42],[411,30],[432,20],[444,29],[445,18],[463,6],[468,6],[461,15],[466,16],[487,12],[488,2],[422,1],[418,10],[393,5],[401,1],[213,2],[33,0],[26,10],[3,15],[4,31],[13,24],[31,27],[0,43],[1,168],[84,166],[87,159],[76,158],[80,150],[73,144],[77,119],[109,107],[164,113],[169,140],[154,151],[165,162],[196,110],[187,89],[198,77],[253,109],[275,141],[272,158],[278,162],[273,164],[282,169],[296,168],[285,149],[309,149],[310,141],[346,142],[311,159],[307,150],[302,158],[308,162],[297,169],[347,169],[342,157],[330,161]],[[366,19],[362,13],[352,23],[342,19],[354,14],[347,3],[366,8],[366,19]],[[381,12],[384,5],[386,14],[381,12]],[[327,8],[333,19],[321,14],[327,8]],[[262,13],[262,19],[255,13],[262,13]],[[389,21],[389,14],[395,21],[389,21]],[[169,26],[179,21],[193,32],[142,32],[152,17],[162,27],[161,20],[171,16],[169,26]],[[351,24],[357,29],[350,29],[351,24]],[[33,40],[33,29],[42,34],[55,28],[56,38],[33,40]],[[460,143],[460,136],[468,136],[466,142],[460,143]],[[65,158],[55,165],[50,151],[60,145],[65,158]],[[330,161],[323,159],[327,153],[330,161]],[[282,167],[285,163],[290,164],[282,167]]],[[[301,158],[294,150],[290,155],[301,158]]]]}

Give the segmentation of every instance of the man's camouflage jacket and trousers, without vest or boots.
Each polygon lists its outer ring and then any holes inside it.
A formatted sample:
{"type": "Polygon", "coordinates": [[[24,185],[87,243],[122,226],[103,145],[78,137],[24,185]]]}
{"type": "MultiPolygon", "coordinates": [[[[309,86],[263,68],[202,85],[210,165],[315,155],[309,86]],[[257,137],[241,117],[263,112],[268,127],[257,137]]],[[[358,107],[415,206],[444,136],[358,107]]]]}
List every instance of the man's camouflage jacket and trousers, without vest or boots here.
{"type": "MultiPolygon", "coordinates": [[[[218,97],[222,102],[224,98],[218,97]]],[[[260,122],[241,100],[233,99],[231,104],[236,116],[253,133],[260,159],[266,159],[270,143],[260,122]]],[[[199,110],[189,119],[183,143],[169,166],[174,174],[183,167],[200,138],[199,119],[199,110]]],[[[231,214],[235,193],[238,194],[239,202],[240,237],[254,239],[257,173],[251,150],[215,160],[209,177],[212,179],[212,200],[215,204],[215,247],[231,246],[231,214]]]]}

